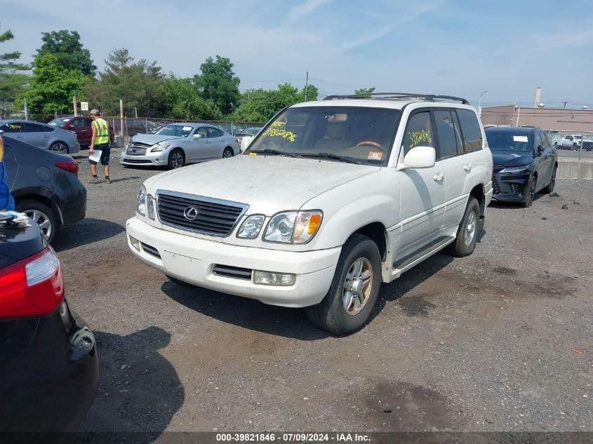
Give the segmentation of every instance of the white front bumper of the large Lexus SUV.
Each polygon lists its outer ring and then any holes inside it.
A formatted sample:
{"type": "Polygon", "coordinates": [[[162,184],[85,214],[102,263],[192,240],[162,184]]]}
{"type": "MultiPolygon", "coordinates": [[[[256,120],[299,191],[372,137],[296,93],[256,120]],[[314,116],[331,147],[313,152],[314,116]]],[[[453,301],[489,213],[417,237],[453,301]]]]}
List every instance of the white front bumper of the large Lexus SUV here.
{"type": "Polygon", "coordinates": [[[328,292],[341,247],[294,252],[209,241],[152,227],[138,217],[126,222],[128,246],[146,264],[187,283],[282,307],[318,304],[328,292]],[[142,243],[133,247],[130,236],[142,243]],[[148,248],[144,248],[144,246],[148,248]],[[150,252],[150,253],[148,253],[150,252]],[[256,285],[251,279],[215,274],[216,265],[296,275],[294,285],[256,285]]]}

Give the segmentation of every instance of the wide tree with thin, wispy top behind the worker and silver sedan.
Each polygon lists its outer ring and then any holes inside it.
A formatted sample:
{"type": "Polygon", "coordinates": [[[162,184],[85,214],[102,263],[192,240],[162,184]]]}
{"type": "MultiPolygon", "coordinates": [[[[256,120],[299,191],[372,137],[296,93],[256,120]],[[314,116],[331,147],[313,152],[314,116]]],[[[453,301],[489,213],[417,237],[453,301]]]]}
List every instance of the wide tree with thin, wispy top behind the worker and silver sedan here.
{"type": "Polygon", "coordinates": [[[114,50],[105,60],[105,71],[98,81],[86,82],[86,94],[93,106],[105,114],[119,114],[119,100],[124,100],[124,114],[151,116],[161,108],[164,74],[156,63],[134,61],[126,48],[114,50]]]}

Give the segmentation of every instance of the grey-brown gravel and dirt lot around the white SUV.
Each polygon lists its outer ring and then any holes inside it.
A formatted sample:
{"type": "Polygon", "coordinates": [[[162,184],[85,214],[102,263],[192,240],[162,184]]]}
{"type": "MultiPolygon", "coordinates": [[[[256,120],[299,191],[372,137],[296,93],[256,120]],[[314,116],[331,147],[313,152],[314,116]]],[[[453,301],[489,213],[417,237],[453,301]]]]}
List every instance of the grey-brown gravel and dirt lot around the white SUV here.
{"type": "Polygon", "coordinates": [[[491,206],[474,255],[384,285],[373,321],[338,338],[135,260],[124,224],[155,173],[114,162],[55,245],[100,350],[81,430],[593,431],[592,181],[491,206]]]}

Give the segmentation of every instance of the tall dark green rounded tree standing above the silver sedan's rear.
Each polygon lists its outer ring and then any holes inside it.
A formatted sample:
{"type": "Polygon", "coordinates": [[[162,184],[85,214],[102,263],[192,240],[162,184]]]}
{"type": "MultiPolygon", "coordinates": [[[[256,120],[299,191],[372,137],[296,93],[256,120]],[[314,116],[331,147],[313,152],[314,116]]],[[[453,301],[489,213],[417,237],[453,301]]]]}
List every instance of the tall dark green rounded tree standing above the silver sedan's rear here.
{"type": "Polygon", "coordinates": [[[222,114],[231,114],[241,99],[240,80],[234,75],[233,66],[226,57],[217,55],[215,60],[208,57],[200,65],[201,74],[194,76],[200,96],[204,100],[213,100],[222,114]]]}

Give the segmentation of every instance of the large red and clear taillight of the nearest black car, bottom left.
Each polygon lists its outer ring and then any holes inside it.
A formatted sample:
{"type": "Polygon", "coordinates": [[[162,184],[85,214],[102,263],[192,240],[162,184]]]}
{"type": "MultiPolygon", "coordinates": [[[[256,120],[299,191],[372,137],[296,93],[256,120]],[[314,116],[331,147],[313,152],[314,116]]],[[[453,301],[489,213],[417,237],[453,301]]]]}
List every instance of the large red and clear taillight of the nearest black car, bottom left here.
{"type": "Polygon", "coordinates": [[[46,316],[63,298],[60,261],[51,247],[0,269],[0,318],[46,316]]]}

